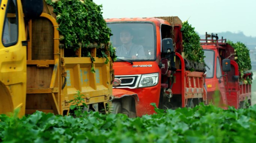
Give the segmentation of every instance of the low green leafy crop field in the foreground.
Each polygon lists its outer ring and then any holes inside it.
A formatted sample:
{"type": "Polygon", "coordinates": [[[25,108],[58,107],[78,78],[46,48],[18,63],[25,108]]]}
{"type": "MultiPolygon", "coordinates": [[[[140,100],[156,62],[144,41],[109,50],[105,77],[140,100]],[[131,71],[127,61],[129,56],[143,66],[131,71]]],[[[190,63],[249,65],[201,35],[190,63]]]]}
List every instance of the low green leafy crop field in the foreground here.
{"type": "MultiPolygon", "coordinates": [[[[152,104],[156,106],[155,104],[152,104]]],[[[227,110],[200,104],[128,118],[85,113],[82,118],[35,112],[21,119],[0,115],[0,142],[230,143],[256,140],[256,105],[227,110]]]]}

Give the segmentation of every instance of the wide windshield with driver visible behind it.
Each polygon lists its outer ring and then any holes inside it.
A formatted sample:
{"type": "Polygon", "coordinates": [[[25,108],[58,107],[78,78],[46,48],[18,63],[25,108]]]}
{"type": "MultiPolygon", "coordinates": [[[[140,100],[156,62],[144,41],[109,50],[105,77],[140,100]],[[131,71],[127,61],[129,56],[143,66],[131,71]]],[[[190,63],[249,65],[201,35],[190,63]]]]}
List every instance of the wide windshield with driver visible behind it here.
{"type": "Polygon", "coordinates": [[[119,60],[155,60],[155,34],[151,23],[108,23],[110,41],[119,60]]]}

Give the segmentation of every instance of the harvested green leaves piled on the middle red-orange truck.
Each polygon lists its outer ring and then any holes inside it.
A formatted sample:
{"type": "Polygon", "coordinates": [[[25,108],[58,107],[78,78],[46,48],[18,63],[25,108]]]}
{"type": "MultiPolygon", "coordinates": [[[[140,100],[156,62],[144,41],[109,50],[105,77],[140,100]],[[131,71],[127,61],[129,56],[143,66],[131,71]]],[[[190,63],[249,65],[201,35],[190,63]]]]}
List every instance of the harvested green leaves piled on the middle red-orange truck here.
{"type": "Polygon", "coordinates": [[[200,36],[195,28],[185,21],[182,23],[183,52],[187,60],[204,63],[204,51],[200,45],[200,36]]]}

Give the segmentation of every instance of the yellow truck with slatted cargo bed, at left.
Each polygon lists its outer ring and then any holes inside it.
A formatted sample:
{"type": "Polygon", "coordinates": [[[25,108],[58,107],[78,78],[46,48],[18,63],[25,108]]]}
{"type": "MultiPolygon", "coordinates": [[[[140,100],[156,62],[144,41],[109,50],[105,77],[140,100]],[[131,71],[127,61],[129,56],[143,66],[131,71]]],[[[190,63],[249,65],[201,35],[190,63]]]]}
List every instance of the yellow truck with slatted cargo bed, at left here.
{"type": "Polygon", "coordinates": [[[81,57],[82,48],[76,57],[65,57],[49,7],[43,3],[43,12],[34,18],[33,9],[22,9],[23,1],[0,0],[0,114],[20,108],[20,117],[36,110],[67,115],[77,90],[89,109],[106,111],[112,98],[112,63],[96,57],[96,46],[91,46],[95,73],[91,58],[81,57]]]}

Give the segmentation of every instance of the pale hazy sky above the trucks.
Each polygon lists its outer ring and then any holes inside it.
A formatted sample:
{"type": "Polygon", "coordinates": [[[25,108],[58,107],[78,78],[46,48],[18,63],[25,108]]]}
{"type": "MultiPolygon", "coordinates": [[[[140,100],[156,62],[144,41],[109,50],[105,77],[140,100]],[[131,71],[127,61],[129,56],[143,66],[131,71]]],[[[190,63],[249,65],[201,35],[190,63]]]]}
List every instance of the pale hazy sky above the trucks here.
{"type": "Polygon", "coordinates": [[[243,32],[256,37],[256,0],[93,0],[104,18],[179,16],[205,32],[243,32]]]}

